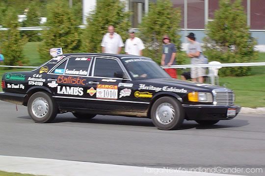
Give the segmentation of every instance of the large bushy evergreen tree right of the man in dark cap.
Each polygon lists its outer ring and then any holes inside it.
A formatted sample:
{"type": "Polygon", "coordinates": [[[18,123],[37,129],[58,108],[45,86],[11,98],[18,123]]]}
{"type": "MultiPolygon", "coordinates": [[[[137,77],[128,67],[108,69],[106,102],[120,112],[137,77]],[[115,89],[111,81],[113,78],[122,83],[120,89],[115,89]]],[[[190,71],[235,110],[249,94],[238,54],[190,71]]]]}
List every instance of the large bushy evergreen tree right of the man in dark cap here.
{"type": "MultiPolygon", "coordinates": [[[[207,25],[205,55],[210,61],[221,63],[245,63],[257,58],[256,44],[251,37],[247,18],[241,0],[220,0],[219,10],[214,13],[214,21],[207,25]]],[[[250,67],[226,67],[221,75],[244,76],[250,73],[250,67]]]]}

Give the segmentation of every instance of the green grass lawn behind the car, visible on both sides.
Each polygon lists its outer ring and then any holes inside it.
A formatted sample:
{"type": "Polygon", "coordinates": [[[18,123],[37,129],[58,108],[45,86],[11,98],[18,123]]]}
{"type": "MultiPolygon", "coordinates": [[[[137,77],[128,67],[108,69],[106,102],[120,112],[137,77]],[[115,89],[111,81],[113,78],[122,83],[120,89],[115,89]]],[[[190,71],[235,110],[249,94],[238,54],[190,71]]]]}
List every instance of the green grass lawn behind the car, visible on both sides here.
{"type": "MultiPolygon", "coordinates": [[[[24,47],[25,58],[29,60],[27,66],[40,66],[42,61],[37,51],[39,42],[27,43],[24,47]]],[[[265,62],[265,53],[259,53],[259,58],[255,62],[265,62]]],[[[188,63],[186,63],[188,64],[188,63]]],[[[33,68],[15,68],[12,70],[2,70],[0,68],[0,78],[6,71],[26,71],[33,68]]],[[[231,88],[236,94],[236,104],[241,107],[265,107],[265,66],[252,66],[251,76],[243,77],[220,77],[220,85],[231,88]]],[[[0,88],[1,91],[1,88],[0,88]]]]}

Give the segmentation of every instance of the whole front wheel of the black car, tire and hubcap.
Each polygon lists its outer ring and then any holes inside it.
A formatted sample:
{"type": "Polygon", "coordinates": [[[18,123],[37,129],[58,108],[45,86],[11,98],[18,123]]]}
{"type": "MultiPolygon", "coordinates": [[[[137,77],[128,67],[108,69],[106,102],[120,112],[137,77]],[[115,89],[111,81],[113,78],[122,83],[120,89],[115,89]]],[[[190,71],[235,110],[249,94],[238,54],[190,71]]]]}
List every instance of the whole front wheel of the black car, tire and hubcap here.
{"type": "Polygon", "coordinates": [[[184,109],[173,97],[159,98],[152,106],[151,118],[159,130],[175,130],[184,120],[184,109]]]}

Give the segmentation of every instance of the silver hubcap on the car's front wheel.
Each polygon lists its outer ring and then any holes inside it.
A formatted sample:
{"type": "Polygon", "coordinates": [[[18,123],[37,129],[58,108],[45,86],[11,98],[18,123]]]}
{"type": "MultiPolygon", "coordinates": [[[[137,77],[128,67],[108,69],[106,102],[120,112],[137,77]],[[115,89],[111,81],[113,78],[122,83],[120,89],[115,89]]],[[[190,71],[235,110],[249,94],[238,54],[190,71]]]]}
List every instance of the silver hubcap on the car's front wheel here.
{"type": "Polygon", "coordinates": [[[156,110],[156,118],[159,123],[167,125],[174,119],[175,110],[169,103],[162,103],[156,110]]]}

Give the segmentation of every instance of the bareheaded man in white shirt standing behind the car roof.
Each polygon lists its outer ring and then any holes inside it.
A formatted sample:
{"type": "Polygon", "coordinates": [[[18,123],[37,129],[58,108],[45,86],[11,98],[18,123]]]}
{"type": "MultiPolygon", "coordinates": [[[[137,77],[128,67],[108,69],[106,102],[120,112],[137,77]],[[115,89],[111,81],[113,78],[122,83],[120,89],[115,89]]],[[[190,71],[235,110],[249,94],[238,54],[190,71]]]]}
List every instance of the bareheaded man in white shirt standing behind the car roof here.
{"type": "Polygon", "coordinates": [[[120,54],[121,47],[124,46],[122,38],[119,34],[114,32],[114,27],[107,27],[106,33],[102,39],[102,53],[120,54]]]}

